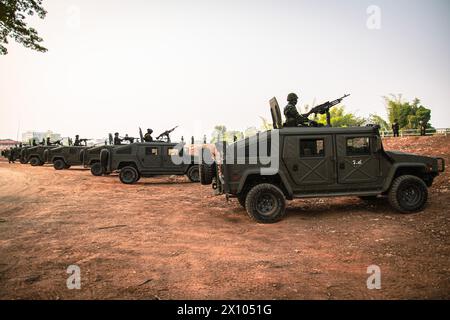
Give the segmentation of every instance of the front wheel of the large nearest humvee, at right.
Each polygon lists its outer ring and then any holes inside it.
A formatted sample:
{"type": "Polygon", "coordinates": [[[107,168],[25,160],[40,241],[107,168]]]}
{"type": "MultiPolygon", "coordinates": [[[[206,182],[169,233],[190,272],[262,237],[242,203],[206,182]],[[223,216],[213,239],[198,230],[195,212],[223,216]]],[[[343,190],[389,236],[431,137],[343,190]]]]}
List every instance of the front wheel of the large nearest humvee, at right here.
{"type": "Polygon", "coordinates": [[[423,209],[428,199],[428,189],[422,179],[404,175],[397,177],[388,194],[389,203],[401,213],[413,213],[423,209]]]}

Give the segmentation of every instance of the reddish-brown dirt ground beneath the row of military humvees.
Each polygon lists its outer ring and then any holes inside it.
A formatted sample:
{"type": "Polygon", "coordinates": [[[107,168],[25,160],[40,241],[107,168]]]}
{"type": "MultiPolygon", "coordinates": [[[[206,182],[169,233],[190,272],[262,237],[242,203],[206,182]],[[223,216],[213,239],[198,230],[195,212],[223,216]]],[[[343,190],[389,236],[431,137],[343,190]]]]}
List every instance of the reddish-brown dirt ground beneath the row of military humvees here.
{"type": "MultiPolygon", "coordinates": [[[[386,140],[443,156],[450,138],[386,140]]],[[[402,215],[383,201],[295,200],[271,225],[187,179],[0,162],[1,299],[450,298],[450,175],[402,215]],[[368,290],[367,267],[381,268],[368,290]],[[78,265],[81,289],[68,290],[78,265]]]]}

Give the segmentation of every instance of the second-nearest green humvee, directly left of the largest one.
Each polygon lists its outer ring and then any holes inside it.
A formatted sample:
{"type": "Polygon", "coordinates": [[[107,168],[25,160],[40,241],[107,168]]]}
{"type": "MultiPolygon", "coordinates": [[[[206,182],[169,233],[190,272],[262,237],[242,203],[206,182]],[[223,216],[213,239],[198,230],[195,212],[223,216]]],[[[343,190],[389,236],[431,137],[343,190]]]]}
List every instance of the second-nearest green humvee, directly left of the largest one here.
{"type": "Polygon", "coordinates": [[[172,161],[172,155],[184,152],[185,148],[180,145],[162,141],[116,145],[101,150],[100,165],[104,173],[119,171],[120,181],[125,184],[155,175],[186,175],[192,182],[198,182],[198,164],[194,157],[190,163],[172,161]]]}

